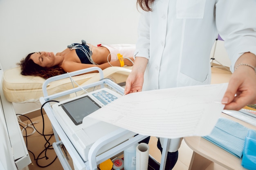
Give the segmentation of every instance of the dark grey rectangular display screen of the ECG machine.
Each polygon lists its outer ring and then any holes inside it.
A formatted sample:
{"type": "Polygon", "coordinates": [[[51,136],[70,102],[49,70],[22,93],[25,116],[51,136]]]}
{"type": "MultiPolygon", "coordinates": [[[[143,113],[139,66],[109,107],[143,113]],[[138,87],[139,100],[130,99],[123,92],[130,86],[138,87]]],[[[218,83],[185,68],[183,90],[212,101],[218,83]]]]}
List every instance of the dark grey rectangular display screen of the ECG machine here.
{"type": "Polygon", "coordinates": [[[82,124],[85,116],[101,108],[101,106],[89,96],[83,96],[82,98],[63,103],[60,106],[75,125],[82,124]]]}

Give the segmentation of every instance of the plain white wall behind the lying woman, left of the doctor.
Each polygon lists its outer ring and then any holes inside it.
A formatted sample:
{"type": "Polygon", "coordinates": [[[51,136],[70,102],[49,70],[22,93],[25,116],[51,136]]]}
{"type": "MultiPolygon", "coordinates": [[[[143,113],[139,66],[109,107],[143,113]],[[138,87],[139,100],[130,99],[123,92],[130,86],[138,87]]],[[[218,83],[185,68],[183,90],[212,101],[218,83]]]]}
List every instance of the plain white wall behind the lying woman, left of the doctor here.
{"type": "Polygon", "coordinates": [[[0,0],[0,63],[3,70],[29,52],[61,52],[88,43],[135,44],[136,0],[0,0]]]}

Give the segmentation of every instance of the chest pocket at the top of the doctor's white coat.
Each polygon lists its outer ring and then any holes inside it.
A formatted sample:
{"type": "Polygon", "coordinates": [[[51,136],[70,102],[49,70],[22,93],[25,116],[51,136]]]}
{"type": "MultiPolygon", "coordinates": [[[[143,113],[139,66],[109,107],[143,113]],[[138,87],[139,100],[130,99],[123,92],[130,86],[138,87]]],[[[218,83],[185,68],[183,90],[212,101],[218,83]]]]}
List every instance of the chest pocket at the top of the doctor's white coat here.
{"type": "Polygon", "coordinates": [[[202,19],[206,0],[177,0],[177,19],[202,19]]]}

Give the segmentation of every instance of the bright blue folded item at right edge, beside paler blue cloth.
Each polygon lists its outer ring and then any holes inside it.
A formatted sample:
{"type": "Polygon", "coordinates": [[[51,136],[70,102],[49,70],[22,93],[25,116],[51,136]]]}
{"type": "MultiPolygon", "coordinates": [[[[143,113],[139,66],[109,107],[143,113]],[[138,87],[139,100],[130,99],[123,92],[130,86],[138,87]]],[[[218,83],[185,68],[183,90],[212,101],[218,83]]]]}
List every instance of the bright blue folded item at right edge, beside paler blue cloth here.
{"type": "Polygon", "coordinates": [[[242,166],[249,170],[256,170],[256,131],[252,129],[245,137],[242,166]]]}

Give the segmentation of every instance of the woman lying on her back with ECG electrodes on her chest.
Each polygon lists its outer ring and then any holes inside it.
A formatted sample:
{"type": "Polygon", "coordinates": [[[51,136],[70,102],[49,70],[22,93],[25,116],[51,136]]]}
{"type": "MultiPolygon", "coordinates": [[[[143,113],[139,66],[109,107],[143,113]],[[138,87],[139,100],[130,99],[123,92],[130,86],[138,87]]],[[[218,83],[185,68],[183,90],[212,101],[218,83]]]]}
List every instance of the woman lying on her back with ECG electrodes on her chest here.
{"type": "Polygon", "coordinates": [[[98,45],[92,46],[82,40],[82,44],[67,46],[63,52],[33,52],[22,59],[18,65],[21,66],[22,75],[34,75],[43,78],[73,72],[90,67],[99,67],[102,70],[111,66],[122,67],[133,65],[133,52],[135,45],[98,45]],[[117,54],[123,59],[118,59],[117,54]]]}

